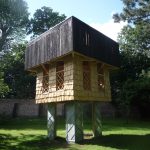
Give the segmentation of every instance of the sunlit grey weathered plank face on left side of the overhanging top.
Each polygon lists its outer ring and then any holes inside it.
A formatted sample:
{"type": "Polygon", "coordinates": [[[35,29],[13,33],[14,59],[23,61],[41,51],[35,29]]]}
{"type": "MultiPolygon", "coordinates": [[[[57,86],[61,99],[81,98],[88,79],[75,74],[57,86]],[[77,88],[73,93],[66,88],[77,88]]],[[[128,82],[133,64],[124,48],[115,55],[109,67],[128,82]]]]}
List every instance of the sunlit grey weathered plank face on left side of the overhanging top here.
{"type": "Polygon", "coordinates": [[[25,69],[32,69],[72,49],[72,18],[69,18],[28,44],[25,53],[25,69]]]}

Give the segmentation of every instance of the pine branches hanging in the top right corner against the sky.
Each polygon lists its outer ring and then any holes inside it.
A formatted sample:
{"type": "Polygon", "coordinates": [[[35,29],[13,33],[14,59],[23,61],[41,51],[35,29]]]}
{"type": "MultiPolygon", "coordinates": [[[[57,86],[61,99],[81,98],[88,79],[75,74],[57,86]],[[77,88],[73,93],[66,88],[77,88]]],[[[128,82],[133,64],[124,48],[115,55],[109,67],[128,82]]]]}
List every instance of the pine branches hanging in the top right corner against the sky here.
{"type": "Polygon", "coordinates": [[[114,14],[116,22],[128,21],[128,23],[140,24],[150,23],[150,1],[149,0],[121,0],[124,4],[120,14],[114,14]]]}

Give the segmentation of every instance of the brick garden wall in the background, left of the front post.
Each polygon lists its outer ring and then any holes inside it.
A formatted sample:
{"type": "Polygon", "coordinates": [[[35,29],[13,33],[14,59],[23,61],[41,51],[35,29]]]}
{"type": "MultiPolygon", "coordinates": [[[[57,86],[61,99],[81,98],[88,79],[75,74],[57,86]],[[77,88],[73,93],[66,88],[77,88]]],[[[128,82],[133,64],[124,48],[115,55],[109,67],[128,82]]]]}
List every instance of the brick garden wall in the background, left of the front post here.
{"type": "MultiPolygon", "coordinates": [[[[57,115],[64,115],[64,104],[57,105],[57,115]]],[[[38,117],[47,115],[47,104],[36,104],[34,99],[0,100],[0,116],[10,117],[38,117]]]]}

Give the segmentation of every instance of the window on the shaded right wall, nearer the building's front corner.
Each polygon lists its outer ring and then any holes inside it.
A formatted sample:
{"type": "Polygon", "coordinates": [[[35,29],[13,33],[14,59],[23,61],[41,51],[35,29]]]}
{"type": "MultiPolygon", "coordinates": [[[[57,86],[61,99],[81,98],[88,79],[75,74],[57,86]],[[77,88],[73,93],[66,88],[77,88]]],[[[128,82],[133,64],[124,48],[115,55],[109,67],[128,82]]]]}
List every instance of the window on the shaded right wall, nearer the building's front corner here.
{"type": "Polygon", "coordinates": [[[84,90],[91,90],[91,74],[90,64],[88,61],[83,61],[83,88],[84,90]]]}

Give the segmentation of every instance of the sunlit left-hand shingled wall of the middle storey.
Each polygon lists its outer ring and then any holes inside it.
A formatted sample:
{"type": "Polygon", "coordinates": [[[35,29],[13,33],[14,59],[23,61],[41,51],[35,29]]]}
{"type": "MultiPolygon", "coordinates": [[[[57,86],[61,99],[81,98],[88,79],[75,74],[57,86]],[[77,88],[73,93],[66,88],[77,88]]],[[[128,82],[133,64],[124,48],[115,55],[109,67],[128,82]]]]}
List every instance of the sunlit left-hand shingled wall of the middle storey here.
{"type": "Polygon", "coordinates": [[[36,103],[62,102],[74,100],[73,62],[70,56],[49,63],[49,78],[44,77],[43,69],[38,70],[36,79],[36,103]],[[45,80],[43,80],[45,79],[45,80]],[[48,84],[44,84],[46,83],[48,84]],[[46,85],[47,91],[43,92],[46,85]]]}

